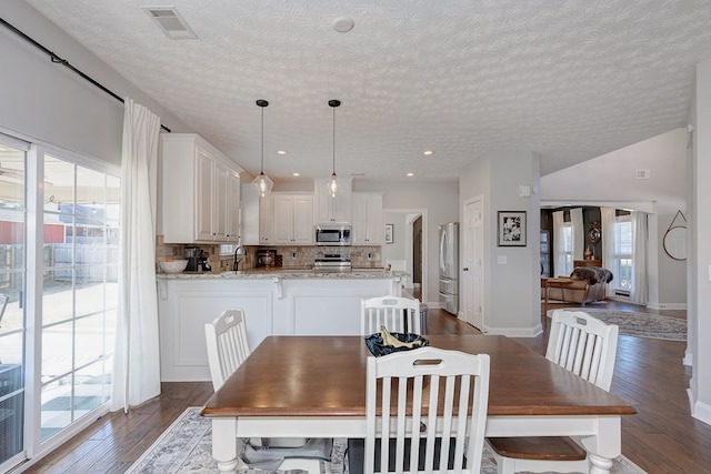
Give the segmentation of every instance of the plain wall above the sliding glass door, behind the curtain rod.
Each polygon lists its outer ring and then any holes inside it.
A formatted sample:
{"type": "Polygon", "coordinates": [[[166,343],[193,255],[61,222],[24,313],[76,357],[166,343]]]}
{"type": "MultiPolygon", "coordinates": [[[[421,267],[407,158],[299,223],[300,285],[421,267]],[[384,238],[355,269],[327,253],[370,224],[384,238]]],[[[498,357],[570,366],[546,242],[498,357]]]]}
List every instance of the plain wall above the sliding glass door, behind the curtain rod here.
{"type": "MultiPolygon", "coordinates": [[[[190,131],[22,0],[2,0],[2,18],[118,95],[148,107],[176,132],[190,131]]],[[[123,104],[6,28],[0,28],[0,129],[113,164],[121,161],[123,104]]]]}

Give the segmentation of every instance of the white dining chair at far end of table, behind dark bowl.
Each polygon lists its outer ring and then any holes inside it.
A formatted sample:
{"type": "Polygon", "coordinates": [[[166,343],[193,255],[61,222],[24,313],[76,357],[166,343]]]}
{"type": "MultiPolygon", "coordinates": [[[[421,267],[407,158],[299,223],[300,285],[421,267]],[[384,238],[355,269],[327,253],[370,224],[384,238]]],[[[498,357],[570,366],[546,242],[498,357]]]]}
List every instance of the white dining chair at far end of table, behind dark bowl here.
{"type": "Polygon", "coordinates": [[[380,332],[385,326],[390,332],[421,334],[420,302],[400,296],[378,296],[361,300],[361,335],[380,332]]]}

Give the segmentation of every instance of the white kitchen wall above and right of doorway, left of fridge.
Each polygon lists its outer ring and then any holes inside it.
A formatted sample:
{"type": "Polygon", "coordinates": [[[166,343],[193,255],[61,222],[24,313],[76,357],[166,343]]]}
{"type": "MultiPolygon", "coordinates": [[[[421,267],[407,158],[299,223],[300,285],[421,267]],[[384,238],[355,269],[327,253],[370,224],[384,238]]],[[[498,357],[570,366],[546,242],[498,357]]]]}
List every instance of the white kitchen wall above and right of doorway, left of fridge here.
{"type": "Polygon", "coordinates": [[[427,274],[422,275],[427,304],[439,307],[438,238],[442,222],[459,220],[459,185],[455,181],[353,181],[353,191],[384,191],[383,209],[425,210],[423,239],[427,245],[427,274]]]}

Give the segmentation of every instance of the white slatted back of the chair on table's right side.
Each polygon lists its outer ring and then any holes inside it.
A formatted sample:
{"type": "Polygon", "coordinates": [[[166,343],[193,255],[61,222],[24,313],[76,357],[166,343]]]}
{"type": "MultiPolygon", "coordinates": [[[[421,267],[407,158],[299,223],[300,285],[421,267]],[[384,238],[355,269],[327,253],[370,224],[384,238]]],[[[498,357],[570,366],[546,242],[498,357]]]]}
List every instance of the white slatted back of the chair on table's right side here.
{"type": "Polygon", "coordinates": [[[553,312],[545,357],[558,365],[610,390],[619,327],[582,311],[553,312]]]}

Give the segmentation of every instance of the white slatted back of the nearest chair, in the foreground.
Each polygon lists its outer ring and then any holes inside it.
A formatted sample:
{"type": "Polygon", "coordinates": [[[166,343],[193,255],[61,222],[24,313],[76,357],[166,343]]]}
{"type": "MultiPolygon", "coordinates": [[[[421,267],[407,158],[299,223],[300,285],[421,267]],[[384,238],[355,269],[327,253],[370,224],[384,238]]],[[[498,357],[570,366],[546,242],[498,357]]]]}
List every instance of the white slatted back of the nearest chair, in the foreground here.
{"type": "Polygon", "coordinates": [[[421,347],[369,356],[367,377],[365,474],[375,470],[377,440],[382,474],[479,473],[489,402],[488,354],[421,347]]]}

